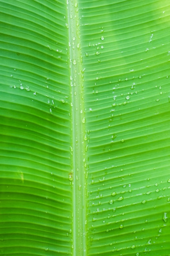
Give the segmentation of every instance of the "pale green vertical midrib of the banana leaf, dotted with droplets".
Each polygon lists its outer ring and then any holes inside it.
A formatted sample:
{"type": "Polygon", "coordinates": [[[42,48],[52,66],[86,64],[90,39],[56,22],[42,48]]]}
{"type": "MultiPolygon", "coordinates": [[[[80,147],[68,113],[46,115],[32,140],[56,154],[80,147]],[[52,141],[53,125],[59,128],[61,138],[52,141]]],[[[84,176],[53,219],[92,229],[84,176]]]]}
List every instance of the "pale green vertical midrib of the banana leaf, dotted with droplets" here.
{"type": "Polygon", "coordinates": [[[71,85],[72,171],[73,171],[73,256],[86,255],[86,182],[85,182],[85,119],[82,81],[82,56],[79,44],[78,8],[76,1],[67,1],[71,85]]]}

